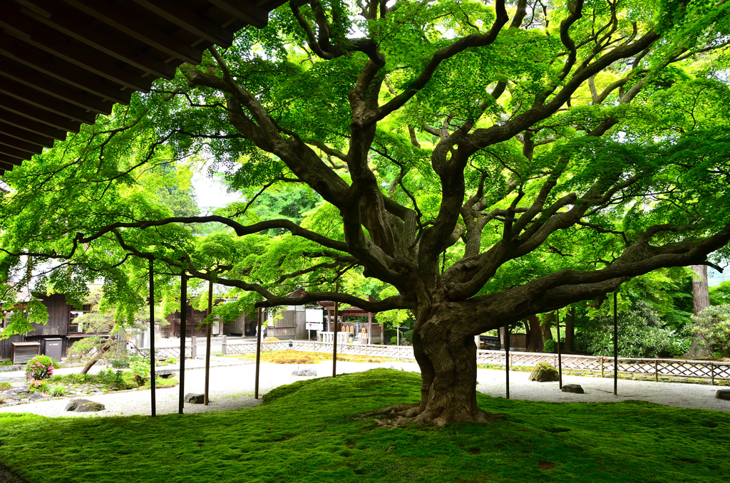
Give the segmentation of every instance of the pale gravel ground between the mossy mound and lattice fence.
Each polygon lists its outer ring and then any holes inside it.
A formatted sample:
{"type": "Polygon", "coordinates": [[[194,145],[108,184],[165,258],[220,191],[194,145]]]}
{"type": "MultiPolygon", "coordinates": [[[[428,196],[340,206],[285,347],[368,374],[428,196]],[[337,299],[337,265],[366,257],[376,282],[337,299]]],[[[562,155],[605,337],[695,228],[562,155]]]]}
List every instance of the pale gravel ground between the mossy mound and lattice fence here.
{"type": "MultiPolygon", "coordinates": [[[[185,413],[206,411],[230,411],[257,406],[261,401],[253,398],[255,366],[247,361],[237,361],[242,365],[218,366],[210,371],[210,405],[185,404],[185,413]]],[[[187,365],[187,363],[186,363],[187,365]]],[[[377,367],[391,367],[405,371],[418,372],[415,363],[348,363],[338,361],[337,373],[367,371],[377,367]]],[[[294,365],[261,364],[259,392],[261,394],[280,385],[290,384],[304,378],[292,376],[294,365]]],[[[318,376],[331,374],[331,362],[313,365],[302,365],[299,368],[313,368],[318,376]]],[[[78,369],[77,369],[78,370],[78,369]]],[[[202,393],[204,387],[204,371],[185,371],[185,393],[202,393]]],[[[526,401],[554,402],[615,402],[627,399],[640,399],[666,406],[712,409],[730,411],[730,401],[715,398],[717,387],[707,385],[618,381],[618,396],[613,395],[613,380],[580,376],[564,376],[564,384],[580,384],[585,394],[562,393],[557,382],[530,382],[529,373],[510,373],[510,396],[512,399],[526,401]]],[[[477,390],[494,397],[504,397],[504,371],[479,369],[477,374],[477,390]]],[[[177,412],[179,387],[157,390],[157,413],[171,414],[177,412]]],[[[123,393],[109,393],[84,397],[91,401],[103,403],[104,411],[97,413],[66,412],[69,398],[39,401],[0,409],[0,412],[27,412],[49,417],[104,417],[129,416],[133,414],[150,414],[150,391],[134,390],[123,393]]]]}

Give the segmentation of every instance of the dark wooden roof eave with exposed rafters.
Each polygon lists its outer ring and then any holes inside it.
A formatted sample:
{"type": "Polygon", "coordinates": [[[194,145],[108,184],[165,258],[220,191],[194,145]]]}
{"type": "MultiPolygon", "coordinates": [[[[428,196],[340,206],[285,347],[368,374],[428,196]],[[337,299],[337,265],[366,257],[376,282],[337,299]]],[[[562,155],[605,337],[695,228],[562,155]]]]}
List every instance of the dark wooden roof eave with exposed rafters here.
{"type": "Polygon", "coordinates": [[[286,0],[0,0],[0,175],[286,0]]]}

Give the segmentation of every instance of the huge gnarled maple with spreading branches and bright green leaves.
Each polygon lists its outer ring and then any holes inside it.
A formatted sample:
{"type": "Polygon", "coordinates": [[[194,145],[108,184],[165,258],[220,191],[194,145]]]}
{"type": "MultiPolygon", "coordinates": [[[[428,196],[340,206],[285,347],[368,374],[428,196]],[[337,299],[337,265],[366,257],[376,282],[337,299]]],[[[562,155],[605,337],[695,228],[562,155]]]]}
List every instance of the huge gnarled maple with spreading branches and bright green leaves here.
{"type": "Polygon", "coordinates": [[[726,251],[729,8],[290,2],[115,109],[85,144],[13,171],[3,247],[93,252],[105,266],[113,253],[155,258],[260,306],[410,310],[421,401],[388,411],[396,423],[484,421],[476,334],[726,251]],[[146,163],[202,153],[253,195],[175,217],[135,193],[146,163]],[[250,223],[258,193],[289,183],[323,201],[299,224],[250,223]],[[49,216],[28,220],[34,206],[49,216]],[[203,222],[240,239],[218,238],[215,264],[180,225],[203,222]],[[270,230],[291,236],[245,241],[270,230]],[[395,293],[331,290],[357,270],[395,293]],[[312,290],[286,297],[298,281],[312,290]]]}

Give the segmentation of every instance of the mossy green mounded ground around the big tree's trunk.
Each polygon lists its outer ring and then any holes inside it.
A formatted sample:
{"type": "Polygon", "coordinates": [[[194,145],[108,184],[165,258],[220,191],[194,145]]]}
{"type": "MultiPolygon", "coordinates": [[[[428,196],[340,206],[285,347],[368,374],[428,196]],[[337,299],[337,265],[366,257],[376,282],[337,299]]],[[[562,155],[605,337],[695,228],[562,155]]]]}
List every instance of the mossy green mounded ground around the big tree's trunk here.
{"type": "Polygon", "coordinates": [[[416,401],[376,369],[272,391],[254,409],[179,416],[0,417],[0,461],[28,482],[722,482],[730,414],[651,403],[480,395],[488,425],[388,429],[353,417],[416,401]]]}

